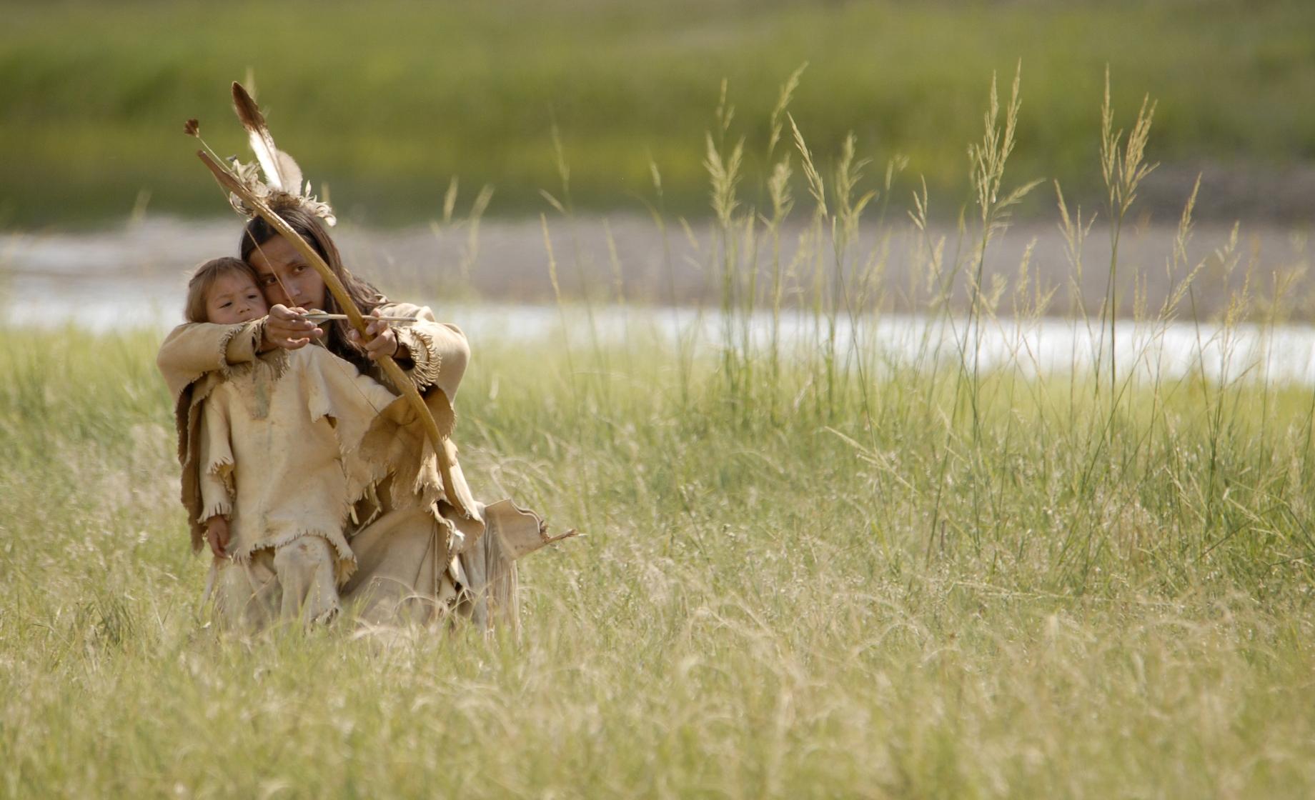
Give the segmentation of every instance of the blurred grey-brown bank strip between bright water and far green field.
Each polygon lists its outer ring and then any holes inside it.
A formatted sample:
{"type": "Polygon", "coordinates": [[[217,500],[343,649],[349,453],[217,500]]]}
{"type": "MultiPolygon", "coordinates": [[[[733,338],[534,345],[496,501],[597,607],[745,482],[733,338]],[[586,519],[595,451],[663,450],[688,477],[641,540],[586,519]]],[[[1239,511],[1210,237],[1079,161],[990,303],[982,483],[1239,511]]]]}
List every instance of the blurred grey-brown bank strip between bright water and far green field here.
{"type": "MultiPolygon", "coordinates": [[[[1086,219],[1084,211],[1084,219],[1086,219]]],[[[663,307],[718,307],[717,267],[710,263],[713,233],[707,222],[692,222],[692,242],[672,221],[665,246],[651,219],[636,215],[581,215],[572,222],[548,219],[554,244],[558,290],[567,300],[598,303],[625,302],[663,307]],[[609,236],[611,239],[609,244],[609,236]],[[613,261],[613,252],[615,261],[613,261]]],[[[781,234],[782,269],[793,257],[802,222],[789,223],[781,234]]],[[[59,301],[78,285],[95,296],[138,292],[172,307],[181,297],[185,275],[197,263],[237,250],[241,225],[235,217],[191,222],[147,215],[89,233],[0,234],[0,281],[11,297],[30,302],[59,301]],[[92,289],[99,286],[99,289],[92,289]]],[[[915,250],[924,244],[907,218],[892,215],[884,229],[869,225],[852,248],[860,269],[871,269],[864,298],[865,309],[886,313],[920,313],[936,302],[928,289],[931,277],[915,250]],[[882,256],[884,254],[884,256],[882,256]],[[884,257],[884,261],[877,263],[884,257]]],[[[944,239],[943,260],[952,261],[957,244],[953,226],[935,225],[934,240],[944,239]]],[[[1176,226],[1130,219],[1120,243],[1120,317],[1137,313],[1137,303],[1157,310],[1184,275],[1165,269],[1173,255],[1176,226]]],[[[1244,284],[1251,314],[1265,311],[1274,292],[1276,276],[1290,276],[1310,263],[1310,227],[1266,223],[1240,225],[1233,244],[1235,261],[1224,269],[1216,251],[1228,247],[1232,225],[1195,225],[1187,256],[1191,265],[1202,264],[1194,281],[1195,313],[1201,319],[1222,314],[1244,284]],[[1247,267],[1255,260],[1248,275],[1247,267]],[[1226,275],[1227,272],[1227,275],[1226,275]]],[[[405,229],[366,229],[339,225],[335,238],[348,264],[362,276],[387,288],[397,297],[452,298],[460,301],[552,303],[556,292],[548,275],[543,229],[534,219],[484,219],[472,239],[471,226],[454,221],[442,226],[405,229]]],[[[974,247],[969,234],[963,247],[974,247]]],[[[1097,314],[1106,293],[1109,235],[1098,218],[1084,248],[1084,271],[1077,282],[1069,263],[1064,236],[1055,222],[1018,222],[988,250],[984,284],[1005,286],[1001,309],[1009,311],[1007,296],[1015,292],[1019,268],[1028,254],[1028,286],[1035,292],[1053,290],[1048,317],[1097,314]],[[1039,281],[1039,284],[1038,284],[1039,281]],[[1081,297],[1082,302],[1077,303],[1081,297]]],[[[769,242],[760,233],[759,297],[755,306],[768,303],[769,242]]],[[[968,257],[968,254],[961,254],[968,257]]],[[[800,306],[800,293],[811,281],[796,267],[782,289],[782,306],[800,306]]],[[[943,278],[938,278],[943,280],[943,278]]],[[[967,278],[960,271],[949,301],[952,307],[967,303],[967,278]]],[[[1289,321],[1315,321],[1315,288],[1302,280],[1279,298],[1279,317],[1289,321]]],[[[806,305],[806,303],[805,303],[806,305]]],[[[1268,313],[1268,311],[1265,311],[1268,313]]]]}

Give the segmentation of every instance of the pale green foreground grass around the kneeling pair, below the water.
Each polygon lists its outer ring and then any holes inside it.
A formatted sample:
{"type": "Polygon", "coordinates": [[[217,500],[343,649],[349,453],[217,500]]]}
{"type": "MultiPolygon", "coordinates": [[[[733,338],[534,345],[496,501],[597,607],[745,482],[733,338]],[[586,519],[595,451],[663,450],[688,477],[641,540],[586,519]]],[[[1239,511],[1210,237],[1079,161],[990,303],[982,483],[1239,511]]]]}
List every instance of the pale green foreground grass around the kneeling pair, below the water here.
{"type": "Polygon", "coordinates": [[[640,335],[475,348],[472,483],[586,533],[526,561],[522,641],[243,642],[199,620],[155,339],[9,331],[0,793],[1315,788],[1311,389],[1135,385],[1106,439],[1086,378],[1007,368],[974,440],[953,369],[865,410],[790,361],[746,410],[640,335]]]}

